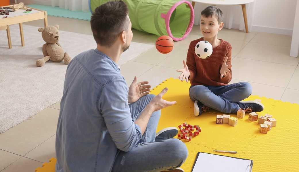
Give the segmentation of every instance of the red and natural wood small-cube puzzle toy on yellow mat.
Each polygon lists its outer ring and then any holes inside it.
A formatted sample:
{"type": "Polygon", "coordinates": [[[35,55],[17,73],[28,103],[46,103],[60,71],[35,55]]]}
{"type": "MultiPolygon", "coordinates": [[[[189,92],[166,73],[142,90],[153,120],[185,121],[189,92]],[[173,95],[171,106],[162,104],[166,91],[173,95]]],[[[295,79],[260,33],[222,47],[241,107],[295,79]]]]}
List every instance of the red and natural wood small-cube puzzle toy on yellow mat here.
{"type": "Polygon", "coordinates": [[[178,139],[185,139],[191,141],[192,137],[199,135],[199,132],[202,132],[201,128],[198,125],[190,125],[186,122],[178,126],[181,134],[178,134],[178,139]],[[185,127],[185,128],[184,128],[185,127]],[[192,131],[194,130],[194,133],[192,131]]]}

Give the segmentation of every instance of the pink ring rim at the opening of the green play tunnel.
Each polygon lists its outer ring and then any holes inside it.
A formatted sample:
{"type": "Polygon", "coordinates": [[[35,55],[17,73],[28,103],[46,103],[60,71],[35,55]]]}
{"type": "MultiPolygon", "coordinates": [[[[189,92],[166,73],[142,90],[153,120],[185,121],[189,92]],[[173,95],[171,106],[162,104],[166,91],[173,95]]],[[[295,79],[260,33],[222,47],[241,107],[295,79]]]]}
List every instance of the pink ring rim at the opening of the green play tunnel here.
{"type": "Polygon", "coordinates": [[[181,41],[181,40],[185,39],[192,30],[192,27],[193,27],[193,24],[194,24],[194,9],[192,7],[192,4],[189,1],[182,0],[182,1],[179,1],[179,2],[175,3],[170,8],[170,10],[167,12],[167,14],[161,13],[161,17],[165,19],[166,31],[168,33],[168,36],[170,36],[170,38],[172,38],[173,41],[181,41]],[[170,30],[170,17],[171,17],[171,14],[173,13],[173,11],[176,9],[176,7],[178,7],[182,3],[186,3],[190,7],[190,10],[191,10],[190,21],[189,21],[189,25],[188,25],[187,30],[184,33],[184,35],[181,38],[176,38],[172,35],[171,30],[170,30]]]}

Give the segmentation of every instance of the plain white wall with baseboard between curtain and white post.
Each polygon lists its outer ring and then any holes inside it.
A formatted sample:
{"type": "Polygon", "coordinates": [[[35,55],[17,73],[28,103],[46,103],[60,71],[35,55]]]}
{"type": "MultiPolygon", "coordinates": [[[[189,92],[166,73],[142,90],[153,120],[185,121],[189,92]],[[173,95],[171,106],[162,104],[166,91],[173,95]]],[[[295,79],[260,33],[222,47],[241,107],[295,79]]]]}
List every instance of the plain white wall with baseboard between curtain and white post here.
{"type": "Polygon", "coordinates": [[[296,3],[297,0],[255,0],[252,30],[292,35],[296,3]]]}

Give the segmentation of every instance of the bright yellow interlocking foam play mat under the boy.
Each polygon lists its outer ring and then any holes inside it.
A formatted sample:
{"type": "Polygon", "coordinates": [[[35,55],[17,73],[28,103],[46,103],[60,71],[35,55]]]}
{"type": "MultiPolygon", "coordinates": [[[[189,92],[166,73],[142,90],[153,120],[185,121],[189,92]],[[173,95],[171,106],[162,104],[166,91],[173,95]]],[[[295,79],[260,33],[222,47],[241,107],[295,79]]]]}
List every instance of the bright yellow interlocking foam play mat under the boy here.
{"type": "MultiPolygon", "coordinates": [[[[248,113],[243,119],[238,119],[236,126],[216,124],[218,111],[209,111],[200,116],[193,115],[193,101],[189,98],[190,83],[179,79],[167,79],[151,90],[151,94],[159,94],[167,87],[168,92],[163,99],[177,101],[161,111],[157,131],[187,122],[199,125],[201,132],[192,140],[185,141],[189,154],[181,166],[185,172],[190,172],[197,152],[206,152],[253,160],[253,172],[298,172],[299,171],[299,105],[282,102],[266,97],[250,96],[246,100],[260,99],[265,108],[257,112],[259,116],[273,115],[277,120],[267,134],[261,134],[257,121],[248,120],[248,113]],[[237,151],[237,154],[216,153],[213,150],[237,151]]],[[[236,117],[236,114],[230,114],[236,117]]],[[[179,131],[180,133],[180,131],[179,131]]],[[[45,163],[37,172],[54,172],[56,159],[45,163]]]]}

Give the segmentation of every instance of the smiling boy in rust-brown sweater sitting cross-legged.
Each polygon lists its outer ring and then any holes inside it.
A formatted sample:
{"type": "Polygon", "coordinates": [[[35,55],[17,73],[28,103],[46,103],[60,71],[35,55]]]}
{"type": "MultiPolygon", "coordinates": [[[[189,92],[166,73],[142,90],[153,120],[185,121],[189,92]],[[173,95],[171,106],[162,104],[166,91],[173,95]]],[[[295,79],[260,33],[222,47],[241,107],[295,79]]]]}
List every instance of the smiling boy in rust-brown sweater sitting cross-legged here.
{"type": "Polygon", "coordinates": [[[248,82],[228,85],[231,81],[231,44],[217,38],[223,28],[222,11],[211,5],[201,13],[200,30],[202,38],[191,41],[187,53],[187,64],[179,78],[190,80],[190,98],[194,102],[194,115],[198,116],[210,108],[222,113],[237,113],[239,109],[246,112],[263,111],[264,106],[259,101],[241,101],[251,95],[252,87],[248,82]],[[209,58],[196,56],[194,48],[199,41],[208,41],[213,46],[209,58]]]}

